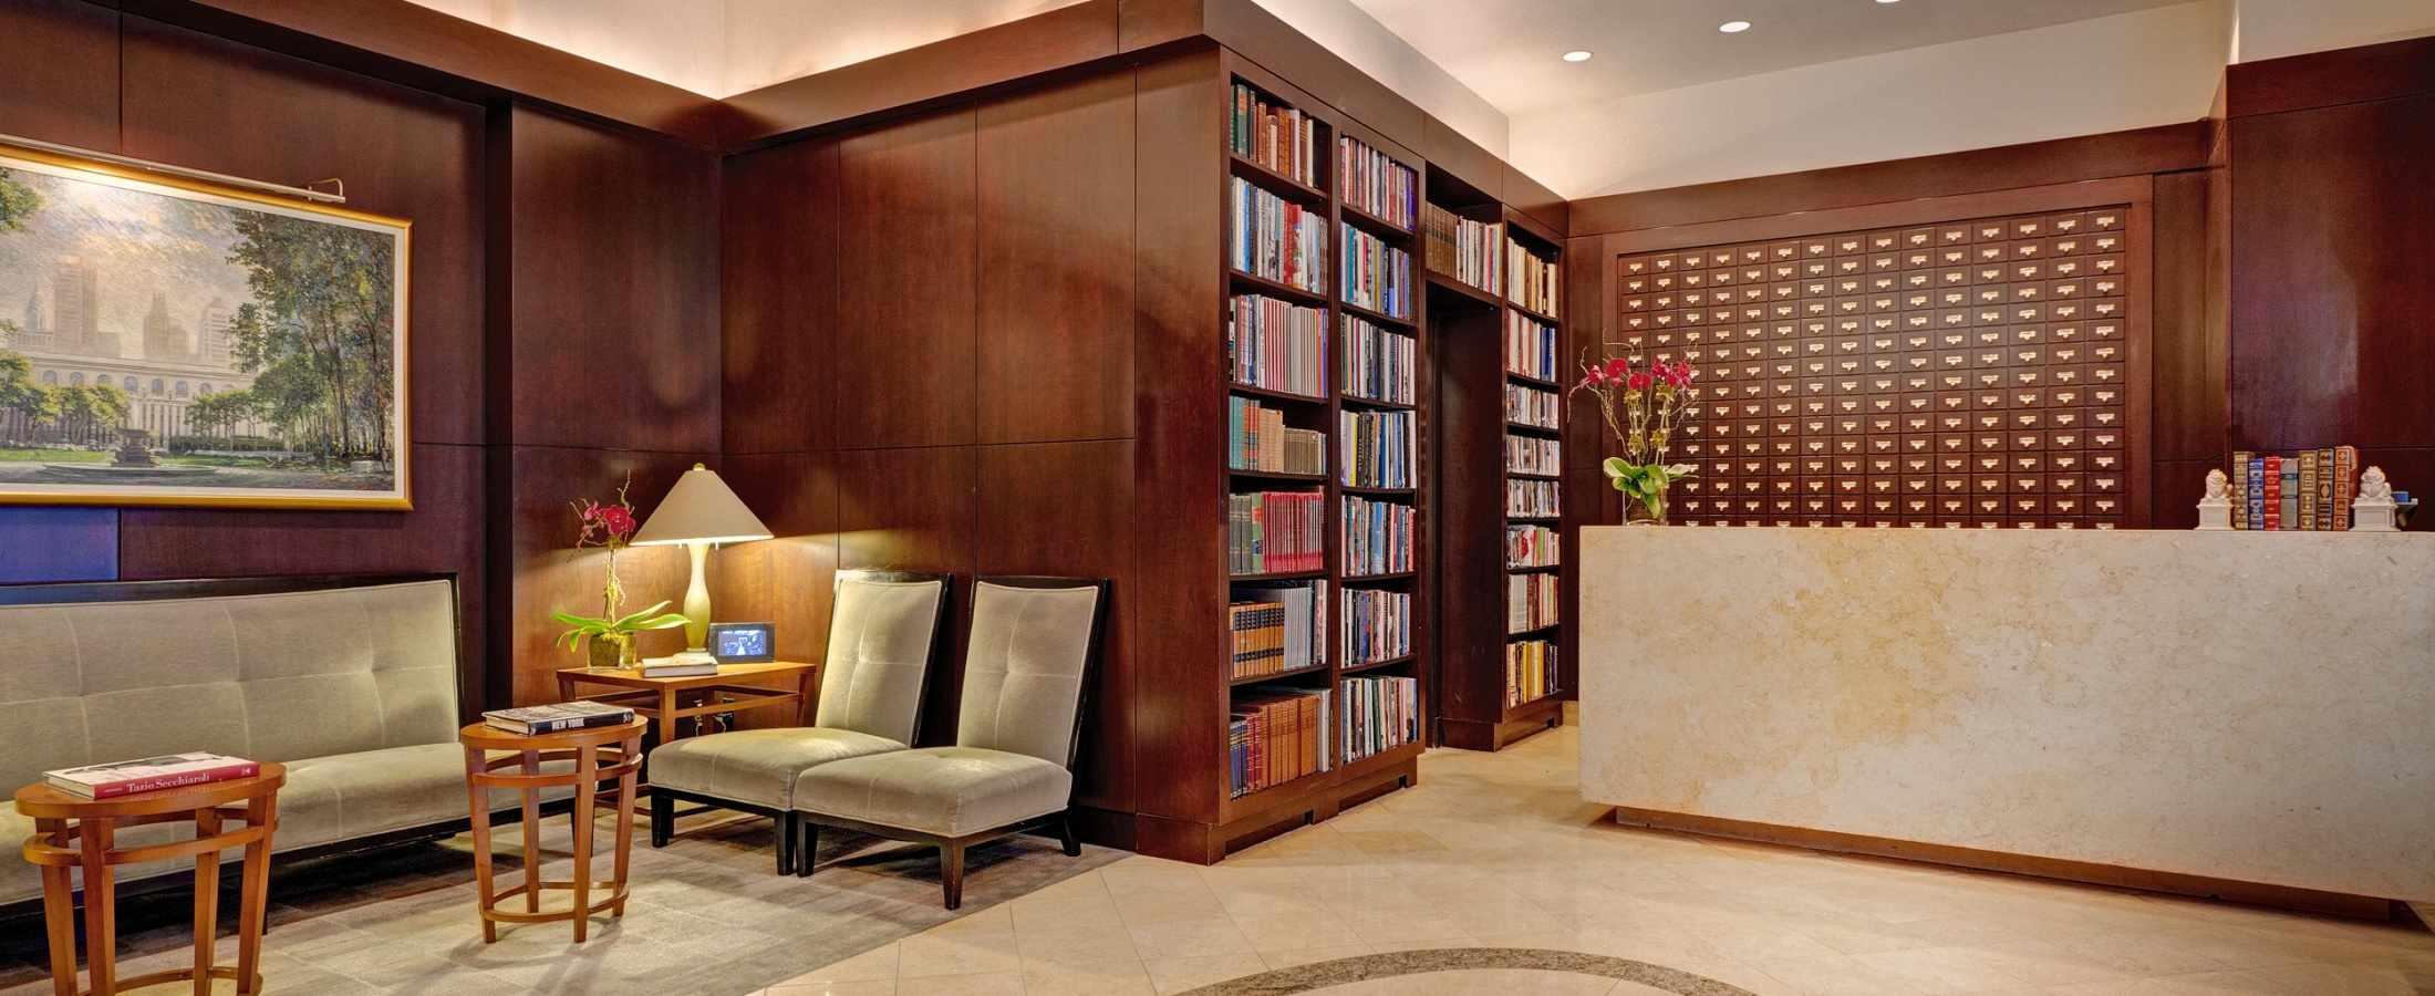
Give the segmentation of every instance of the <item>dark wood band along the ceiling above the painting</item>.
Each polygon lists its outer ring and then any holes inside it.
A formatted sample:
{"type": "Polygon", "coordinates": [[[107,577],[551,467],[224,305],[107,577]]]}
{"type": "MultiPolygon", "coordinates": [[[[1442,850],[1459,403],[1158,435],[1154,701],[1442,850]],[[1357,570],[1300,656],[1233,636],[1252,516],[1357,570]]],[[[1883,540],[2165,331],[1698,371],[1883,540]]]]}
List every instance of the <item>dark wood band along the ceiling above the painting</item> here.
{"type": "Polygon", "coordinates": [[[526,41],[407,0],[110,0],[129,15],[460,100],[526,95],[716,149],[730,117],[699,93],[526,41]]]}

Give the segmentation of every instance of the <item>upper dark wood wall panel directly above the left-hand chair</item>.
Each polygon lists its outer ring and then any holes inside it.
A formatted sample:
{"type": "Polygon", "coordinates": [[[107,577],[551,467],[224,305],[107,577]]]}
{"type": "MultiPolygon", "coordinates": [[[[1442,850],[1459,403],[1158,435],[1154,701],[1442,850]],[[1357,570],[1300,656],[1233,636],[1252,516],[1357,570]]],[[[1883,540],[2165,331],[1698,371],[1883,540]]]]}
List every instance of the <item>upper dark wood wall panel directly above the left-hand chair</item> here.
{"type": "Polygon", "coordinates": [[[838,153],[838,441],[974,441],[974,112],[847,136],[838,153]]]}

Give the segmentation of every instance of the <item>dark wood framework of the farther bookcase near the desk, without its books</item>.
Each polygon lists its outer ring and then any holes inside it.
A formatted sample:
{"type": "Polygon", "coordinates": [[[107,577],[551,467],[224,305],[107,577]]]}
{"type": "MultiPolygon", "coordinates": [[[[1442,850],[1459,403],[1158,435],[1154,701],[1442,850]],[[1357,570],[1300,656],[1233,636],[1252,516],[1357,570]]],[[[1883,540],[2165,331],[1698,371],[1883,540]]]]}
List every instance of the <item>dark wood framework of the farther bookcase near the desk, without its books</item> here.
{"type": "MultiPolygon", "coordinates": [[[[1507,244],[1561,263],[1563,241],[1546,226],[1507,209],[1485,192],[1444,170],[1429,170],[1429,202],[1456,217],[1500,224],[1500,263],[1507,244]]],[[[1500,265],[1495,287],[1476,287],[1451,273],[1429,270],[1429,326],[1437,348],[1439,453],[1444,455],[1444,516],[1439,521],[1439,577],[1449,604],[1466,611],[1442,619],[1442,660],[1437,679],[1439,740],[1449,748],[1500,750],[1536,731],[1563,723],[1563,692],[1573,687],[1571,655],[1558,655],[1556,689],[1532,701],[1507,701],[1505,648],[1517,640],[1561,643],[1566,619],[1524,631],[1507,628],[1507,582],[1517,575],[1561,577],[1561,560],[1546,567],[1507,563],[1507,526],[1546,526],[1561,531],[1561,514],[1507,514],[1510,482],[1566,487],[1563,460],[1544,475],[1507,470],[1507,436],[1561,441],[1563,385],[1558,380],[1510,373],[1505,329],[1519,314],[1556,329],[1556,368],[1571,370],[1571,336],[1554,314],[1524,309],[1515,300],[1515,273],[1500,265]],[[1507,419],[1507,385],[1556,395],[1554,429],[1507,419]]],[[[1561,502],[1558,502],[1561,509],[1561,502]]],[[[1561,543],[1558,543],[1561,545],[1561,543]]],[[[1561,606],[1563,599],[1556,599],[1561,606]]]]}

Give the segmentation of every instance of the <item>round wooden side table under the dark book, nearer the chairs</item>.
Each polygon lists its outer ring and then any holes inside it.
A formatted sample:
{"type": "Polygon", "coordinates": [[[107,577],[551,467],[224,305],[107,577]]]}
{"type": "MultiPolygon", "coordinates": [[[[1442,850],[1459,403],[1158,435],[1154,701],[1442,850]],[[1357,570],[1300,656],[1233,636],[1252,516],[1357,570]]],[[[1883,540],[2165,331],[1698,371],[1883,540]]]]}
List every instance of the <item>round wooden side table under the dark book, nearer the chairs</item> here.
{"type": "Polygon", "coordinates": [[[616,872],[592,882],[592,811],[599,784],[616,779],[618,799],[633,799],[633,777],[643,770],[640,718],[618,726],[594,726],[562,733],[509,733],[472,723],[458,731],[465,745],[465,804],[472,808],[472,877],[480,894],[482,942],[499,940],[499,923],[575,921],[575,942],[584,940],[592,913],[626,916],[626,864],[633,855],[633,821],[618,811],[616,872]],[[504,757],[492,757],[504,750],[504,757]],[[575,762],[567,772],[543,772],[543,762],[575,762]],[[504,772],[514,767],[514,772],[504,772]],[[541,879],[541,791],[575,787],[575,872],[567,882],[541,879]],[[489,789],[516,789],[524,799],[524,882],[514,889],[492,884],[489,869],[489,789]],[[543,889],[567,889],[575,903],[541,911],[543,889]],[[599,899],[592,899],[599,891],[599,899]],[[524,896],[521,911],[499,908],[502,899],[524,896]]]}

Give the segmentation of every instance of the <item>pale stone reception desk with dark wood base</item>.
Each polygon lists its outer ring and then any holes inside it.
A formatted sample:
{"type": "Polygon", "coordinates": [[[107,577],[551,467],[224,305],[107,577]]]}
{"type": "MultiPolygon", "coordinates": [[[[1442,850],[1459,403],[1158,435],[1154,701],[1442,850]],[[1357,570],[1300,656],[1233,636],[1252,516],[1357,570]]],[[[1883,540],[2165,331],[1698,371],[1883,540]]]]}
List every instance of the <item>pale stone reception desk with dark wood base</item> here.
{"type": "Polygon", "coordinates": [[[1583,528],[1617,821],[2165,891],[2435,899],[2435,536],[1583,528]]]}

